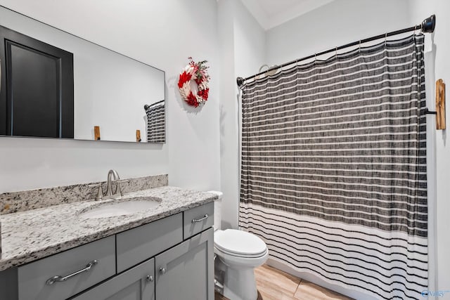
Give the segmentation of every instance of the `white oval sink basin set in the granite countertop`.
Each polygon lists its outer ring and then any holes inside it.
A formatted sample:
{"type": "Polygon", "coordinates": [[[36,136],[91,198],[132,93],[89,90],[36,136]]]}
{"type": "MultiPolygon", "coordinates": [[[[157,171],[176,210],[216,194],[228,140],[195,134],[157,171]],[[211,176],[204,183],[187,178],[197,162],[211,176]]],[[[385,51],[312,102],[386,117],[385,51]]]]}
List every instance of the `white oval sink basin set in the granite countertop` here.
{"type": "Polygon", "coordinates": [[[124,216],[153,209],[160,204],[161,201],[157,198],[149,197],[113,200],[113,202],[105,202],[83,209],[79,212],[79,217],[82,219],[100,219],[124,216]]]}

